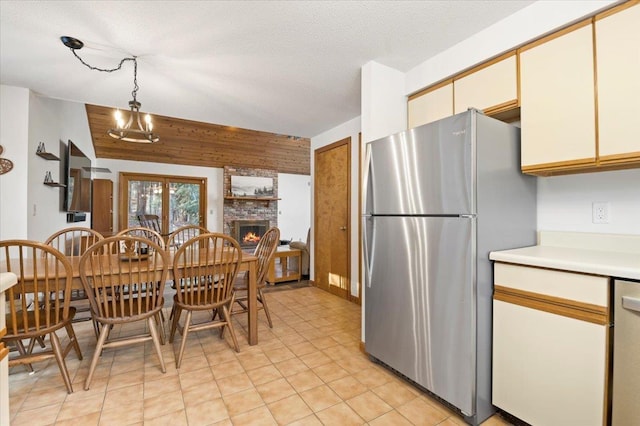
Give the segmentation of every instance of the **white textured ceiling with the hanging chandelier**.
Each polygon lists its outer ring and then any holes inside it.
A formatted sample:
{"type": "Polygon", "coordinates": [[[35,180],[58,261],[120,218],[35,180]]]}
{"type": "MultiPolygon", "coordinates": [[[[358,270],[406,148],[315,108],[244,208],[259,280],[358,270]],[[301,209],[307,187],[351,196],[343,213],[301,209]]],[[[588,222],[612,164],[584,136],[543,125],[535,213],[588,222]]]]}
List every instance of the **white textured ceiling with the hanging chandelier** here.
{"type": "Polygon", "coordinates": [[[312,137],[360,115],[360,69],[408,71],[532,1],[0,2],[0,82],[126,108],[312,137]]]}

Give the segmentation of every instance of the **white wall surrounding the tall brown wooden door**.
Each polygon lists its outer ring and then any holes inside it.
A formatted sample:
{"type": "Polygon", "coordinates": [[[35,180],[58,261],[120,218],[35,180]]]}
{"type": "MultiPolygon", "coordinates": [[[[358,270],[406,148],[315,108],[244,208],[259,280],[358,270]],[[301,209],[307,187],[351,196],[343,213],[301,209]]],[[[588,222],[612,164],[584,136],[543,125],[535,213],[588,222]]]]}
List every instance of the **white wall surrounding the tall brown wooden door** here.
{"type": "MultiPolygon", "coordinates": [[[[321,133],[311,138],[311,194],[313,194],[313,176],[315,173],[314,152],[318,148],[330,145],[334,142],[345,138],[351,138],[351,223],[349,228],[351,229],[351,295],[358,296],[358,246],[360,241],[358,240],[358,223],[360,222],[360,212],[358,211],[358,197],[360,192],[358,191],[359,183],[359,147],[358,140],[360,134],[360,117],[356,117],[350,121],[342,123],[341,125],[334,127],[324,133],[321,133]]],[[[364,155],[364,153],[363,153],[364,155]]],[[[311,212],[313,212],[313,197],[311,197],[311,212]]],[[[313,214],[313,213],[312,213],[313,214]]],[[[310,269],[309,274],[311,279],[314,279],[314,257],[313,250],[313,235],[316,232],[314,229],[314,221],[311,220],[311,247],[309,247],[310,253],[310,269]]]]}

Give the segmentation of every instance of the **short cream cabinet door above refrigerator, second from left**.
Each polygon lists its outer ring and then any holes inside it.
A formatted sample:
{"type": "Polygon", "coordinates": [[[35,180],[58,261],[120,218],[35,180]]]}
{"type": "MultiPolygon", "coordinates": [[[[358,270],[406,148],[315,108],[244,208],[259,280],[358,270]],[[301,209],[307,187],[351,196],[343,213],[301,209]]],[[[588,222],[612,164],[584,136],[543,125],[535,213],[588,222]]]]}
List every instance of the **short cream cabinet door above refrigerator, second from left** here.
{"type": "Polygon", "coordinates": [[[455,113],[477,108],[491,115],[518,104],[516,55],[453,82],[455,113]]]}

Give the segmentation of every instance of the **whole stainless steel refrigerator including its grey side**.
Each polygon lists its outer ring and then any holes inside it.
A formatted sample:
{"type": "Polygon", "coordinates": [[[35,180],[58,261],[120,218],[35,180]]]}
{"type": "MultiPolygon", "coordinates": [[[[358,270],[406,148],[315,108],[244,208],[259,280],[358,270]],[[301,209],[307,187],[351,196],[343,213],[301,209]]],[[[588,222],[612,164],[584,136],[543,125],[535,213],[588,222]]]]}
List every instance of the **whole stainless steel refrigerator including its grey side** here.
{"type": "Polygon", "coordinates": [[[519,143],[470,109],[366,149],[366,351],[470,424],[495,411],[489,252],[536,243],[519,143]]]}

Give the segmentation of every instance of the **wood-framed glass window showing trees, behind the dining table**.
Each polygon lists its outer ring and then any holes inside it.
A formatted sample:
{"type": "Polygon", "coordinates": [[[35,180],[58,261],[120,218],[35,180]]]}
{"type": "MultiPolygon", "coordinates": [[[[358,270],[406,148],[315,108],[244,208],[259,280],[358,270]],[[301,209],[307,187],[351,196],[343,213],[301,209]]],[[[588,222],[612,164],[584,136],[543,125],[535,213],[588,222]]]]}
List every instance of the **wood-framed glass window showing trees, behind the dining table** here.
{"type": "Polygon", "coordinates": [[[184,225],[206,228],[206,193],[206,178],[120,173],[120,229],[140,226],[141,214],[157,215],[163,235],[184,225]]]}

